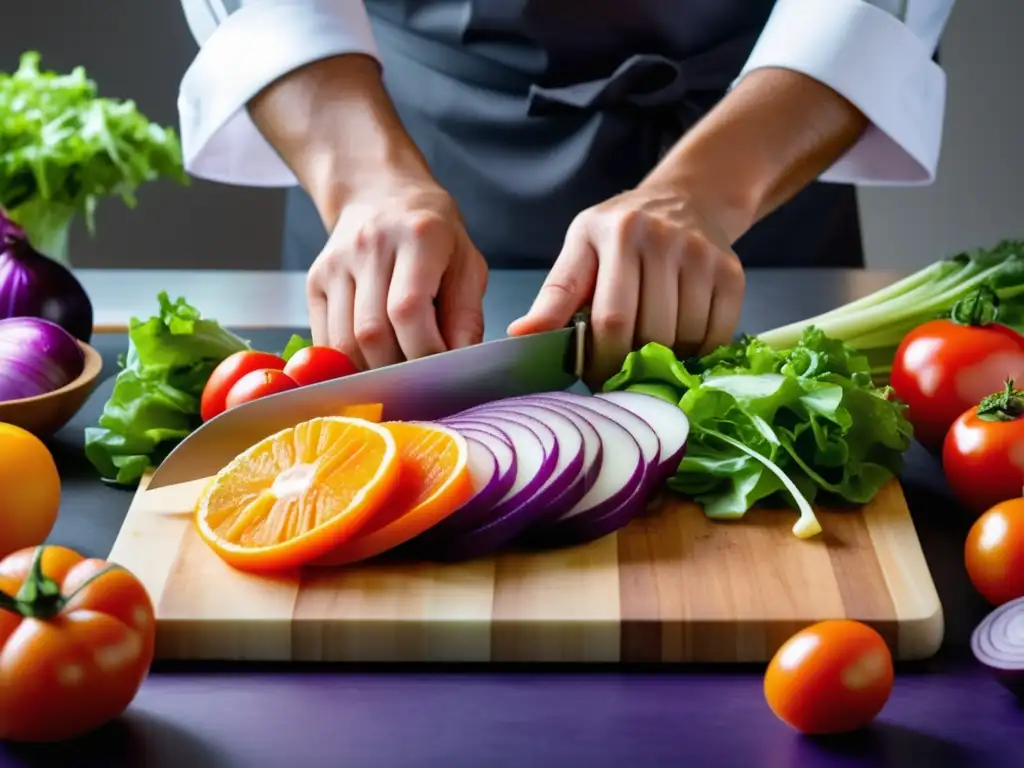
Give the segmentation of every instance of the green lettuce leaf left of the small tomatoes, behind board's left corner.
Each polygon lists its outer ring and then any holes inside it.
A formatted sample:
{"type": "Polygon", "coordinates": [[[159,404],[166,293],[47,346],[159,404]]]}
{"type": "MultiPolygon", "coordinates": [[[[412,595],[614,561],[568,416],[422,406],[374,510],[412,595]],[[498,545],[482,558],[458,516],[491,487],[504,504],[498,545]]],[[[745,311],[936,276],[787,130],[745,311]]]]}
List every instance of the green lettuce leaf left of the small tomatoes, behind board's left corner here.
{"type": "Polygon", "coordinates": [[[134,485],[201,423],[203,387],[213,369],[249,343],[204,318],[184,298],[158,297],[160,313],[131,319],[128,352],[85,455],[100,475],[134,485]]]}

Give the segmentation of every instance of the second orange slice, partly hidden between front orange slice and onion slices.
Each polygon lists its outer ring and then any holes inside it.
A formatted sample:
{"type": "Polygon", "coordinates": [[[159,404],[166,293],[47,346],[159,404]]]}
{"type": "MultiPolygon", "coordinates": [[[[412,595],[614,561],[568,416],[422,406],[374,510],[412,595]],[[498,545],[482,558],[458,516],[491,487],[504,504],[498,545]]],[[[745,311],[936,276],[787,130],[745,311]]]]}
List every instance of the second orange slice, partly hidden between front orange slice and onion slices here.
{"type": "Polygon", "coordinates": [[[398,446],[398,485],[365,528],[313,565],[344,565],[394,549],[436,525],[473,494],[469,449],[461,434],[439,424],[381,426],[398,446]]]}

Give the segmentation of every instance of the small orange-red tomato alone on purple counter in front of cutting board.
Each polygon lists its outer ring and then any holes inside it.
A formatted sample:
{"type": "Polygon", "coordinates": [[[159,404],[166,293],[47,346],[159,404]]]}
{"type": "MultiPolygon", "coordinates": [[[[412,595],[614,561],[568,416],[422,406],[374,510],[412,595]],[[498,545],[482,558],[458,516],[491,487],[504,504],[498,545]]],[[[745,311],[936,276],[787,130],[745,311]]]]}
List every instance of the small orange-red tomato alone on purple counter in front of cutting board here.
{"type": "Polygon", "coordinates": [[[844,733],[873,720],[893,688],[882,636],[859,622],[821,622],[791,637],[768,665],[765,698],[803,733],[844,733]]]}

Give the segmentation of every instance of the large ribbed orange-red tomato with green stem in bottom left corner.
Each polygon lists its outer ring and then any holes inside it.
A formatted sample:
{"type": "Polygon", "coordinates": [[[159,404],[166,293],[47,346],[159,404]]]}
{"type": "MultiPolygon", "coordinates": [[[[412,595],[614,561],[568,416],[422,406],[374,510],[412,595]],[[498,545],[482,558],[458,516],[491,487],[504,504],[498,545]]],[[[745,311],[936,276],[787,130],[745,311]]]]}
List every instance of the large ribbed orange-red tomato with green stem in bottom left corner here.
{"type": "Polygon", "coordinates": [[[74,738],[128,709],[157,629],[134,575],[63,547],[32,547],[0,561],[0,739],[74,738]]]}

